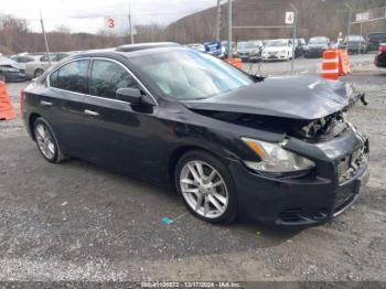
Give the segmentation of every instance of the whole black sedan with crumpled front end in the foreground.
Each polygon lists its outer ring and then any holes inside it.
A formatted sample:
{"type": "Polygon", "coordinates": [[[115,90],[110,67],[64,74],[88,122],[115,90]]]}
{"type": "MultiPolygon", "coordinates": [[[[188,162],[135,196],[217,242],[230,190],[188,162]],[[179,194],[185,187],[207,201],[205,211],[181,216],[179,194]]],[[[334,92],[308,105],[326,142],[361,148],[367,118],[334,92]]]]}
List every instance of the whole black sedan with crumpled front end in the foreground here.
{"type": "Polygon", "coordinates": [[[368,178],[345,118],[361,95],[319,77],[261,78],[184,47],[78,54],[22,93],[42,156],[172,185],[212,223],[331,221],[368,178]]]}

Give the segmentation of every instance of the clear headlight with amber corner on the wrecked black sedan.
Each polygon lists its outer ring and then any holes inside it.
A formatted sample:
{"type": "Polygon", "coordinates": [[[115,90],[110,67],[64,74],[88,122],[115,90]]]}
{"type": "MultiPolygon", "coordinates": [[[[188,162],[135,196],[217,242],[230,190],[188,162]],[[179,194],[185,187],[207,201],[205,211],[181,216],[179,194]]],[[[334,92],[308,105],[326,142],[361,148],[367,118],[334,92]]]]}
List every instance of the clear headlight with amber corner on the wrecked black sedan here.
{"type": "Polygon", "coordinates": [[[315,163],[282,148],[281,143],[242,138],[259,157],[260,161],[245,161],[245,164],[259,172],[271,174],[304,172],[313,169],[315,163]]]}

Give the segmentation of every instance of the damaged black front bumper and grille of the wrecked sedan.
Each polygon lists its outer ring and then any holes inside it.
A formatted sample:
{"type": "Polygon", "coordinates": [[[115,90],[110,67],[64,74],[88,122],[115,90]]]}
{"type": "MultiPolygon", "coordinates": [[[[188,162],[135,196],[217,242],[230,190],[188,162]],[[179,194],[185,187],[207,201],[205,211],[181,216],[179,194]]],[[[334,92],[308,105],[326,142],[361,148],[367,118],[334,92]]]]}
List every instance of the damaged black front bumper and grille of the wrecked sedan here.
{"type": "Polygon", "coordinates": [[[314,161],[314,171],[299,179],[278,179],[238,162],[229,164],[242,218],[283,226],[331,222],[352,206],[368,180],[368,141],[361,141],[355,131],[318,144],[291,139],[287,149],[314,161]]]}

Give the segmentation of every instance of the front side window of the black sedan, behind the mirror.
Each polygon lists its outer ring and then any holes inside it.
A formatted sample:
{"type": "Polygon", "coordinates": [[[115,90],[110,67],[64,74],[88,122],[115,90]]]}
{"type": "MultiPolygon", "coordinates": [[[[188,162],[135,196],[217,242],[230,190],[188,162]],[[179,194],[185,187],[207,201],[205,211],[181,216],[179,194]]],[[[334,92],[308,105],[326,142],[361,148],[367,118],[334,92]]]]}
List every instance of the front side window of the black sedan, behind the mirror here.
{"type": "Polygon", "coordinates": [[[115,98],[118,88],[136,88],[137,83],[119,64],[95,60],[92,68],[89,92],[92,95],[115,98]]]}

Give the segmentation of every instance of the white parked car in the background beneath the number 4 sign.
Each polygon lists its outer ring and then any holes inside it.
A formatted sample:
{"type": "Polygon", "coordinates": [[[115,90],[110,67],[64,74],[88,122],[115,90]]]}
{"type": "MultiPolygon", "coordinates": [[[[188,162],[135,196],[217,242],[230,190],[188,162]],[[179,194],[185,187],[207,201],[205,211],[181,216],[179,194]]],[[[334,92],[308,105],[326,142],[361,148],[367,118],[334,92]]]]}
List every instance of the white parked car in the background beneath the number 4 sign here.
{"type": "Polygon", "coordinates": [[[289,61],[292,56],[292,40],[288,39],[266,41],[261,52],[262,61],[289,61]]]}

